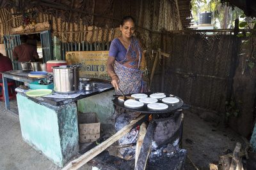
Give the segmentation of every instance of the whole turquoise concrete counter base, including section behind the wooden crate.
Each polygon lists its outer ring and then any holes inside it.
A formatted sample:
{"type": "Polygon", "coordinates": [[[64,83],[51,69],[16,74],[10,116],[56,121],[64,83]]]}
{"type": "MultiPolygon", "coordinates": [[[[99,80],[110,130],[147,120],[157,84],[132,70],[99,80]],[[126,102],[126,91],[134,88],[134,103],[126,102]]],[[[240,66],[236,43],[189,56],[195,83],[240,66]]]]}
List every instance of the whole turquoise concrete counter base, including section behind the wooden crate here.
{"type": "Polygon", "coordinates": [[[22,138],[54,164],[63,167],[79,152],[77,113],[96,112],[102,125],[114,111],[113,90],[90,95],[77,101],[55,106],[41,101],[44,97],[17,94],[22,138]],[[41,99],[40,99],[41,98],[41,99]],[[78,107],[77,107],[78,105],[78,107]]]}

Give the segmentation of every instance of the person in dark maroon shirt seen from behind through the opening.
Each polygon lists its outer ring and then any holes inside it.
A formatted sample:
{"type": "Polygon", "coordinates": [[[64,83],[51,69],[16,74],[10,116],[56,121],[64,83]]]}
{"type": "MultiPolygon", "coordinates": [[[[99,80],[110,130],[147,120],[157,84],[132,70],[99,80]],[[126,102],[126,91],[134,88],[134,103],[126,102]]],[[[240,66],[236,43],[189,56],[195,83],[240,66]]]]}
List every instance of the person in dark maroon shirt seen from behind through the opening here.
{"type": "MultiPolygon", "coordinates": [[[[20,36],[21,45],[15,46],[13,49],[14,60],[17,60],[18,62],[35,62],[38,60],[39,56],[35,46],[28,45],[27,39],[26,35],[20,36]]],[[[18,67],[21,69],[20,63],[18,63],[18,67]]]]}

